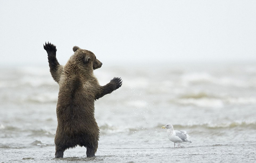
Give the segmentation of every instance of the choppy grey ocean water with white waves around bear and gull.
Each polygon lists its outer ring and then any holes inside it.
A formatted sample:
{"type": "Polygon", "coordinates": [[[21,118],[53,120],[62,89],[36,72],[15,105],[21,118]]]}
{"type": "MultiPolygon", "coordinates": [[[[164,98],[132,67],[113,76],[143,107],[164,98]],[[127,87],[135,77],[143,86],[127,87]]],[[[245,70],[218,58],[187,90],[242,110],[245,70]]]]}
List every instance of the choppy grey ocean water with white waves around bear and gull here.
{"type": "Polygon", "coordinates": [[[95,70],[123,85],[95,102],[96,157],[55,159],[58,84],[48,65],[0,68],[0,163],[256,162],[256,63],[149,64],[95,70]],[[163,125],[192,143],[174,148],[163,125]]]}

